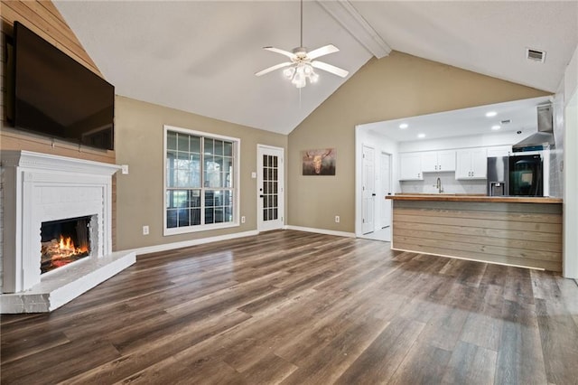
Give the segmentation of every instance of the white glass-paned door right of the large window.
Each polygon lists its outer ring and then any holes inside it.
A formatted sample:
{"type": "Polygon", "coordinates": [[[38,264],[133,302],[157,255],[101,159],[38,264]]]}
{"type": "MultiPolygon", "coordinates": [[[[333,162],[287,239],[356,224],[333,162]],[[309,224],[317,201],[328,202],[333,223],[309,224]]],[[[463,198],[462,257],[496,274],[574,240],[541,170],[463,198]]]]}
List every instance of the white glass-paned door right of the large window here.
{"type": "Polygon", "coordinates": [[[257,145],[257,230],[282,229],[284,224],[284,150],[257,145]]]}

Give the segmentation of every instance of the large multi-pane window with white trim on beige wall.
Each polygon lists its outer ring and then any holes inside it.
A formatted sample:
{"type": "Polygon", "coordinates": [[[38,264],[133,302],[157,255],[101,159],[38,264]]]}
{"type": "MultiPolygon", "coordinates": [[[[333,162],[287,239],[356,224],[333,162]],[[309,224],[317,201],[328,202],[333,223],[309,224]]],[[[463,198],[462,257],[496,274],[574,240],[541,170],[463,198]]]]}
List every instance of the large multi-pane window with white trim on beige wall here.
{"type": "Polygon", "coordinates": [[[164,127],[164,235],[238,226],[239,145],[164,127]]]}

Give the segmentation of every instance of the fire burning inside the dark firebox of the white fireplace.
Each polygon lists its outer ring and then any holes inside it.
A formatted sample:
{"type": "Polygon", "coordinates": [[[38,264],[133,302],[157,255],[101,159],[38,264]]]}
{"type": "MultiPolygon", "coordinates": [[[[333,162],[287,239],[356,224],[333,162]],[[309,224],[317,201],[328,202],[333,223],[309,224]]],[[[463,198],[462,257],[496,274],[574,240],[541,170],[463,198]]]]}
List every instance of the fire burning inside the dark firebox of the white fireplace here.
{"type": "Polygon", "coordinates": [[[90,255],[91,217],[42,222],[41,274],[90,255]]]}

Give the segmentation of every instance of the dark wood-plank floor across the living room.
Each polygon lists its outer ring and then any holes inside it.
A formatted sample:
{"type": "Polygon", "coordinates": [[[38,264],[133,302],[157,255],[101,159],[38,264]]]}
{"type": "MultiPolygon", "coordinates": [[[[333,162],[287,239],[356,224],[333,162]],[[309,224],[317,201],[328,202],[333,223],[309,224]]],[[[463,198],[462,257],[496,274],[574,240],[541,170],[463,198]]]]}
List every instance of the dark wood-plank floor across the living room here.
{"type": "Polygon", "coordinates": [[[3,315],[2,383],[576,384],[578,286],[275,231],[149,254],[3,315]]]}

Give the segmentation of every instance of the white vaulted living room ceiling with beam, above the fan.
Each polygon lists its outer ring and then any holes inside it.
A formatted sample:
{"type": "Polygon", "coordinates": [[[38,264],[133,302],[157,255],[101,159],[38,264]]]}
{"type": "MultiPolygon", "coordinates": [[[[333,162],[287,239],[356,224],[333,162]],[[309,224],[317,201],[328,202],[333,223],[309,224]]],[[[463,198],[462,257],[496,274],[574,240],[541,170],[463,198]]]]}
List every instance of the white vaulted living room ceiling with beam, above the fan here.
{"type": "Polygon", "coordinates": [[[296,0],[54,3],[117,94],[282,134],[389,47],[554,92],[578,44],[576,1],[305,1],[304,45],[335,44],[322,61],[350,75],[300,93],[281,71],[254,76],[284,61],[262,47],[299,45],[296,0]]]}

